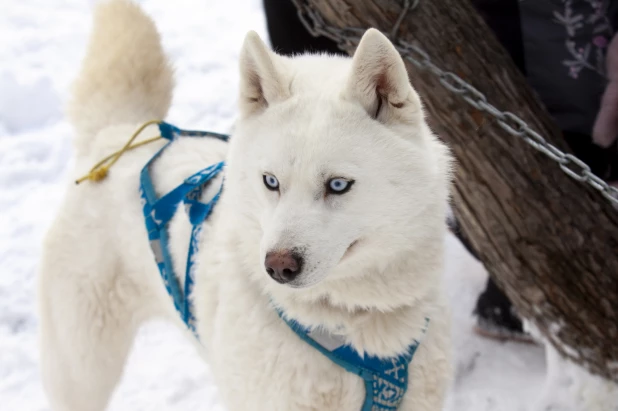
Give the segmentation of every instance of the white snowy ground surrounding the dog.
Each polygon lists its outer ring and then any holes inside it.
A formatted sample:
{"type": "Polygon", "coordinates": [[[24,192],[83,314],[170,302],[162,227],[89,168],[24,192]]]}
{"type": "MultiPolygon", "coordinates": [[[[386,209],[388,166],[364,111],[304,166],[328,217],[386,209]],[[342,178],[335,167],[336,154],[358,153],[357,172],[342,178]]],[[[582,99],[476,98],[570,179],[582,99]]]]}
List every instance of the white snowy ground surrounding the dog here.
{"type": "MultiPolygon", "coordinates": [[[[169,120],[225,132],[233,122],[244,34],[265,37],[260,0],[148,0],[176,64],[169,120]]],[[[35,276],[42,235],[72,165],[62,115],[84,52],[92,2],[0,0],[0,408],[48,410],[38,373],[35,276]],[[10,2],[10,4],[9,4],[10,2]]],[[[457,374],[449,411],[522,411],[540,393],[543,351],[471,332],[486,274],[448,240],[445,284],[454,308],[457,374]]],[[[139,335],[111,410],[223,410],[208,367],[172,327],[139,335]]]]}

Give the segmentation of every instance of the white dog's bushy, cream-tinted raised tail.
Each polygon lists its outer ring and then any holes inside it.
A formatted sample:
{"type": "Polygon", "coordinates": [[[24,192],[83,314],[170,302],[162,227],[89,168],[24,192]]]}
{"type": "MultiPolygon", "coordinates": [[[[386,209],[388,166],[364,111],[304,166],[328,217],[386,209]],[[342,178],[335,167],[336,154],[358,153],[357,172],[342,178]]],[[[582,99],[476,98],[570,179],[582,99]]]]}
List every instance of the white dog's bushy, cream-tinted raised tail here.
{"type": "Polygon", "coordinates": [[[173,83],[159,33],[140,7],[130,0],[99,4],[68,107],[78,151],[107,126],[163,119],[173,83]]]}

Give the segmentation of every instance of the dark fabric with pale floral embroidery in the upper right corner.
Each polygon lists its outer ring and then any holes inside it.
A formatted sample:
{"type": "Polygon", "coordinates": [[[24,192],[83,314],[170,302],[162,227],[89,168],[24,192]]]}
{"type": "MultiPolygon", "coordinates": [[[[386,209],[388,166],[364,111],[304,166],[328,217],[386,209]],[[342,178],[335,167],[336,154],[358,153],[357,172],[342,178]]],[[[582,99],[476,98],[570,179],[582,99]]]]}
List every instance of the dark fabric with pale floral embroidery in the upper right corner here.
{"type": "Polygon", "coordinates": [[[607,84],[613,0],[519,0],[528,80],[562,130],[590,135],[607,84]]]}

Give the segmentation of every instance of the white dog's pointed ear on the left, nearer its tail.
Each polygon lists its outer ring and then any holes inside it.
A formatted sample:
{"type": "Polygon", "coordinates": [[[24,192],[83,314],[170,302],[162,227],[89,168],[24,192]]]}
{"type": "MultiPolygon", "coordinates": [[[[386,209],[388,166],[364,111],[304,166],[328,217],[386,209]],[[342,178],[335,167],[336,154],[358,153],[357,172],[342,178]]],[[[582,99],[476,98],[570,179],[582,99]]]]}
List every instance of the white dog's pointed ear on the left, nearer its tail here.
{"type": "Polygon", "coordinates": [[[240,53],[240,111],[246,116],[289,97],[281,57],[270,51],[254,31],[247,33],[240,53]]]}

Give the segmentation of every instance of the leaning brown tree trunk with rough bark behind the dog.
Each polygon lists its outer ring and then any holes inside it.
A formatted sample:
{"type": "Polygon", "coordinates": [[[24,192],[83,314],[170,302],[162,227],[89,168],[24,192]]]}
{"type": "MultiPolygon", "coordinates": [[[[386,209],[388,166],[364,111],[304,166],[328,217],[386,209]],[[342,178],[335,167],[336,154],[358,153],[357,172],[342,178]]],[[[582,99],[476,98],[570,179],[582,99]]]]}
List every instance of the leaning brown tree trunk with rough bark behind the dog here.
{"type": "MultiPolygon", "coordinates": [[[[312,26],[376,27],[385,33],[403,8],[397,0],[294,1],[312,26]]],[[[359,37],[359,32],[345,33],[359,37]]],[[[350,52],[357,41],[341,46],[350,52]]],[[[517,114],[569,152],[468,0],[421,1],[398,30],[395,44],[402,41],[418,45],[436,66],[455,72],[489,103],[517,114]]],[[[445,88],[431,70],[406,64],[433,129],[458,160],[455,214],[487,270],[562,355],[618,381],[618,211],[445,88]]]]}

